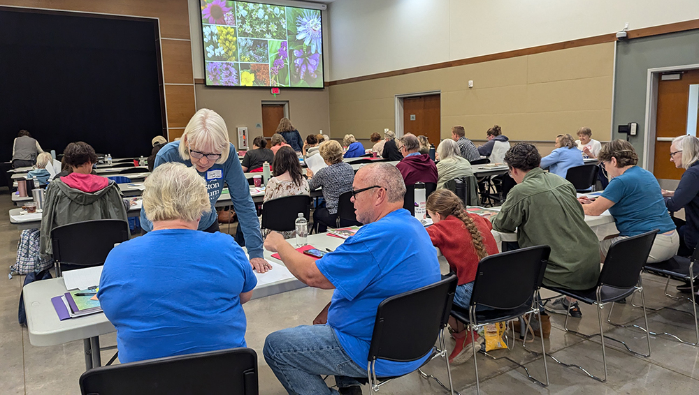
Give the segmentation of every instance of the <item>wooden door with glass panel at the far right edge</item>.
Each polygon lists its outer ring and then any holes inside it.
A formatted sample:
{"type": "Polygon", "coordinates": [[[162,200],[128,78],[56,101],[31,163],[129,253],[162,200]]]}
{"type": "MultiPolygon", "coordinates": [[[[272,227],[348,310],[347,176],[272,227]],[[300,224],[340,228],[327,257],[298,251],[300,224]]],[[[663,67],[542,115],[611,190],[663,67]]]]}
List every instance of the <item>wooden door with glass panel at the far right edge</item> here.
{"type": "Polygon", "coordinates": [[[684,169],[670,162],[670,140],[684,135],[687,130],[689,85],[699,84],[699,70],[689,70],[680,80],[658,82],[658,112],[656,114],[656,142],[653,174],[657,179],[680,179],[684,169]],[[658,141],[661,140],[661,141],[658,141]],[[666,141],[663,141],[666,140],[666,141]]]}

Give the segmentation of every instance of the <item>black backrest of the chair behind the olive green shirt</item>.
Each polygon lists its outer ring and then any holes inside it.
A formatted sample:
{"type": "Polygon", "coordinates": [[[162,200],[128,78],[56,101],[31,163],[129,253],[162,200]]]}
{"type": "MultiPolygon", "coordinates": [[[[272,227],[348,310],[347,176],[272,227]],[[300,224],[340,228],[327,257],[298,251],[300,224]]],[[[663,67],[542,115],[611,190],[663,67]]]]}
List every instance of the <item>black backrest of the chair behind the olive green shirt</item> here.
{"type": "Polygon", "coordinates": [[[656,229],[615,241],[607,251],[597,285],[622,289],[634,287],[648,260],[657,233],[656,229]]]}

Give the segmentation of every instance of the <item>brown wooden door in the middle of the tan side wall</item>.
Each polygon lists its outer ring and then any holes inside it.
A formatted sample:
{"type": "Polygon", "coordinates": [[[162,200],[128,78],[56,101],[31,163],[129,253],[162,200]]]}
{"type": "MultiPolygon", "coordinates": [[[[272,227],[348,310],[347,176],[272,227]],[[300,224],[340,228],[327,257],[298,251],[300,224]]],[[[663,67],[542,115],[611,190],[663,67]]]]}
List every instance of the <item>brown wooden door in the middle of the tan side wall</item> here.
{"type": "Polygon", "coordinates": [[[437,147],[440,142],[440,96],[404,98],[403,132],[416,136],[426,135],[437,147]]]}

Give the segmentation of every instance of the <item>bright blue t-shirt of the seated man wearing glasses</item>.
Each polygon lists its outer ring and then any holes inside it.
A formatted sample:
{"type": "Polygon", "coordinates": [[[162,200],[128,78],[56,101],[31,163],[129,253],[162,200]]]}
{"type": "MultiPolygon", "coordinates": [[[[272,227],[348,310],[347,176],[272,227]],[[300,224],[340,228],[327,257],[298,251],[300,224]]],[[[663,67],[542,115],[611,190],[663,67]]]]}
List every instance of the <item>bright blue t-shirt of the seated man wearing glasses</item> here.
{"type": "MultiPolygon", "coordinates": [[[[336,288],[328,325],[335,330],[347,355],[362,367],[367,364],[379,304],[388,297],[441,279],[429,234],[405,209],[364,225],[316,264],[336,288]]],[[[415,362],[379,359],[376,373],[384,377],[410,373],[427,357],[415,362]]]]}

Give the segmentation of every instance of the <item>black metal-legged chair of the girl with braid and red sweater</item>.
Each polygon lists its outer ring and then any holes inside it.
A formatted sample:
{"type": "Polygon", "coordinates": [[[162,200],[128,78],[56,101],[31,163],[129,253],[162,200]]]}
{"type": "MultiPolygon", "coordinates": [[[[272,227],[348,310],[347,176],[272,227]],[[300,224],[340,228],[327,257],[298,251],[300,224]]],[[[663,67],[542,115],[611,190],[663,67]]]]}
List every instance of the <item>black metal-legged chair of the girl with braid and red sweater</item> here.
{"type": "MultiPolygon", "coordinates": [[[[540,299],[539,289],[550,253],[551,247],[549,246],[533,246],[483,258],[478,264],[468,310],[454,304],[452,316],[470,327],[471,338],[474,338],[476,329],[480,327],[512,320],[522,315],[536,314],[541,322],[538,302],[540,299]],[[507,276],[503,276],[503,273],[507,273],[507,276]],[[489,309],[479,311],[477,308],[480,306],[489,309]]],[[[526,330],[529,330],[528,325],[526,330]]],[[[542,387],[547,387],[549,385],[549,369],[546,365],[544,333],[541,325],[539,325],[539,331],[546,384],[533,378],[526,366],[509,357],[505,357],[505,359],[524,368],[529,380],[542,387]]],[[[475,348],[473,348],[473,368],[476,373],[476,391],[480,394],[475,348]]]]}

